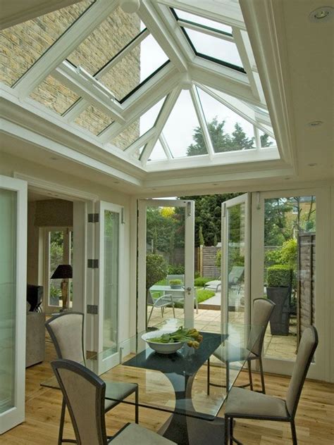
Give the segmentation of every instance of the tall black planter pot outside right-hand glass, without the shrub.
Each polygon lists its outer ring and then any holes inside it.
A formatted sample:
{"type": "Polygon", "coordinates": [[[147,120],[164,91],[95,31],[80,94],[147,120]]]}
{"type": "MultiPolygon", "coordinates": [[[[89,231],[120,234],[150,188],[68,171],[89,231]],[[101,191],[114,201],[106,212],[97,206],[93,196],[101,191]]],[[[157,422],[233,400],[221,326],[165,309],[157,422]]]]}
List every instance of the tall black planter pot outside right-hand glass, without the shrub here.
{"type": "Polygon", "coordinates": [[[271,335],[289,334],[290,294],[290,287],[267,287],[268,299],[275,303],[270,319],[271,335]]]}

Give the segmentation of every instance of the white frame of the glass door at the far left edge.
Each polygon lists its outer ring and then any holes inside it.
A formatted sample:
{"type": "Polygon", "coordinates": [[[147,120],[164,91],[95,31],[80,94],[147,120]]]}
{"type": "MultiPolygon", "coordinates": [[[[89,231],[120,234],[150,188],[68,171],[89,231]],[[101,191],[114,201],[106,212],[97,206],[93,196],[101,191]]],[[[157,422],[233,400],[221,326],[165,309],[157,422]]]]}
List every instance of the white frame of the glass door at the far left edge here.
{"type": "Polygon", "coordinates": [[[25,322],[27,289],[27,182],[0,175],[1,189],[17,193],[14,406],[0,414],[0,434],[25,420],[25,322]]]}

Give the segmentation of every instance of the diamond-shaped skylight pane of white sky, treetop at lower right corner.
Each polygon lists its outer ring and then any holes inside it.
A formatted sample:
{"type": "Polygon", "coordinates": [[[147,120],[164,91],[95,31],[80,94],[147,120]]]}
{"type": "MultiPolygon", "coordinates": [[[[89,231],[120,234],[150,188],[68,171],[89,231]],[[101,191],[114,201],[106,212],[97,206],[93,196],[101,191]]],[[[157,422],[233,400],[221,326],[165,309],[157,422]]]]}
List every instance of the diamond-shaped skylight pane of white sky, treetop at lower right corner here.
{"type": "MultiPolygon", "coordinates": [[[[199,127],[190,92],[186,89],[180,93],[176,104],[163,127],[163,136],[166,139],[173,158],[189,156],[193,146],[202,141],[202,130],[199,127]]],[[[203,142],[203,151],[207,153],[203,142]]],[[[202,154],[202,153],[200,153],[202,154]]]]}

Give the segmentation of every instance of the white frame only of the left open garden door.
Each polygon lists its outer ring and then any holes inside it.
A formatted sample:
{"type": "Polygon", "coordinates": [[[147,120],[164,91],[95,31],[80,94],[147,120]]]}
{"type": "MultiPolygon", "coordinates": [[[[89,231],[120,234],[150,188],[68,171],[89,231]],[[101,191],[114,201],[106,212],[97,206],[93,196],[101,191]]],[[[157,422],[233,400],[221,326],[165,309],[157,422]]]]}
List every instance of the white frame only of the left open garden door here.
{"type": "Polygon", "coordinates": [[[140,199],[138,200],[138,296],[137,332],[146,328],[146,214],[147,207],[185,208],[185,322],[187,327],[194,325],[194,201],[183,199],[140,199]],[[190,289],[190,290],[187,290],[190,289]]]}

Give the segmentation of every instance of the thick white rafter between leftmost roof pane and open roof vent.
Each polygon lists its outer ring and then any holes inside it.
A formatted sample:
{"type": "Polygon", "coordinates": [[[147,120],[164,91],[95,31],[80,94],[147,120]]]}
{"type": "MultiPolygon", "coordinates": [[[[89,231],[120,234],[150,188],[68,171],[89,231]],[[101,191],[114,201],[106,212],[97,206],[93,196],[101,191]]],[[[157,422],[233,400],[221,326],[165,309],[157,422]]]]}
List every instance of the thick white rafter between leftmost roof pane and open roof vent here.
{"type": "Polygon", "coordinates": [[[117,6],[117,0],[99,0],[92,4],[16,82],[14,88],[20,99],[29,96],[117,6]]]}

